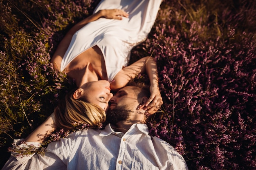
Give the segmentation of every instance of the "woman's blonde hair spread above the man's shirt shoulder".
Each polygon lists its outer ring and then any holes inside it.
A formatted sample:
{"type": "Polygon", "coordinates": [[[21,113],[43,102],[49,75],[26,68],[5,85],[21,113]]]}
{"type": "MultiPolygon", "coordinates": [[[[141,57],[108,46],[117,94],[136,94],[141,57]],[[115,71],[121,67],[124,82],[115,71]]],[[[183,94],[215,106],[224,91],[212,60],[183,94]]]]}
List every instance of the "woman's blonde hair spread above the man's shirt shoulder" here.
{"type": "Polygon", "coordinates": [[[74,99],[73,93],[68,93],[65,100],[60,102],[54,110],[54,124],[63,130],[73,130],[74,124],[88,124],[98,126],[106,121],[105,110],[87,99],[74,99]]]}

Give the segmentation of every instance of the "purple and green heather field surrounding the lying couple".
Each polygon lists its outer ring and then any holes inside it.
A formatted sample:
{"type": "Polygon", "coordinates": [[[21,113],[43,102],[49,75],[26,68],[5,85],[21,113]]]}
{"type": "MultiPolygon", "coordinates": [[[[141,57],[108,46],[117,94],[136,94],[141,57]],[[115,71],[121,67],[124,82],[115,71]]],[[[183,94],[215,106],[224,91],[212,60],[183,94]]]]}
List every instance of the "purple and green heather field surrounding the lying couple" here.
{"type": "MultiPolygon", "coordinates": [[[[0,0],[0,168],[13,139],[25,138],[74,88],[49,60],[98,2],[0,0]]],[[[150,133],[190,170],[256,169],[255,28],[252,0],[163,0],[147,40],[132,50],[130,63],[157,61],[164,104],[150,133]]]]}

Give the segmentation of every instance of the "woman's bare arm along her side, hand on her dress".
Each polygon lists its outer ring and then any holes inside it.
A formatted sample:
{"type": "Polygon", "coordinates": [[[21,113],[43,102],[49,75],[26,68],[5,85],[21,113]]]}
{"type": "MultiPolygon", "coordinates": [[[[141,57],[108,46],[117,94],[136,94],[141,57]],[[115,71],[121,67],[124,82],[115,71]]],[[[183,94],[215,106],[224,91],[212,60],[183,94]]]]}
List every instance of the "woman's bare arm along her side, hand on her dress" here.
{"type": "Polygon", "coordinates": [[[65,55],[65,52],[67,51],[67,48],[72,40],[72,36],[74,35],[74,33],[76,33],[76,31],[81,29],[89,22],[93,22],[95,20],[98,20],[99,18],[122,20],[121,16],[128,17],[128,13],[121,9],[103,9],[74,25],[67,32],[63,40],[61,40],[54,55],[52,56],[51,62],[53,63],[54,68],[58,70],[60,69],[62,58],[65,55]]]}

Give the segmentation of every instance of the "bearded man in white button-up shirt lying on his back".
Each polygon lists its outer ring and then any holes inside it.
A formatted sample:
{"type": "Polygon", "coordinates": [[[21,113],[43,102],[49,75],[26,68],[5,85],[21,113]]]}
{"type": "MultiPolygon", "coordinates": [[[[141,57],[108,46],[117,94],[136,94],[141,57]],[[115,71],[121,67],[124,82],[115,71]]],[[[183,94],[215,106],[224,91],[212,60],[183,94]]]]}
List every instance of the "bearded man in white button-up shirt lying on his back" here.
{"type": "Polygon", "coordinates": [[[52,142],[45,155],[10,158],[3,169],[186,170],[183,157],[167,142],[148,134],[144,104],[148,91],[126,86],[110,100],[103,130],[80,130],[52,142]]]}

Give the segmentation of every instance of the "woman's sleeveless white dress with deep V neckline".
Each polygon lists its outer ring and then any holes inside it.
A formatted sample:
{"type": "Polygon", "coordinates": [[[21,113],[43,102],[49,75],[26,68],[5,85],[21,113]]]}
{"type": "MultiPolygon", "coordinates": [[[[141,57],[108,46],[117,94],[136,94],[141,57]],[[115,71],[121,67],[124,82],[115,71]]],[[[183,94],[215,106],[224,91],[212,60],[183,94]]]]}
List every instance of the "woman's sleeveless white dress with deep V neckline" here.
{"type": "Polygon", "coordinates": [[[130,51],[144,41],[150,32],[162,0],[102,0],[94,13],[101,9],[123,9],[129,14],[122,20],[99,18],[77,31],[70,42],[61,71],[80,53],[97,45],[101,50],[108,75],[115,75],[127,66],[130,51]]]}

